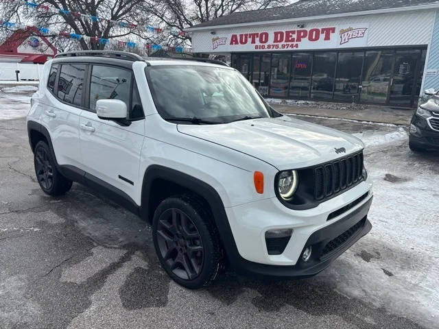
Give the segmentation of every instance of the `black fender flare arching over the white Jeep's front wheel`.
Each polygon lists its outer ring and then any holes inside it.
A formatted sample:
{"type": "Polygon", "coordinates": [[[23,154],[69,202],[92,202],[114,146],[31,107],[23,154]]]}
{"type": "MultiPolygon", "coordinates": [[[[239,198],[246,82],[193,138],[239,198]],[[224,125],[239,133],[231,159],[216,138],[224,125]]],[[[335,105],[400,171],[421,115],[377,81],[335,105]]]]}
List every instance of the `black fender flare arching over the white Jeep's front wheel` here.
{"type": "Polygon", "coordinates": [[[219,233],[219,239],[222,242],[230,263],[235,263],[233,260],[241,258],[235,239],[233,238],[230,224],[228,223],[226,210],[221,197],[219,197],[215,188],[187,173],[182,173],[181,171],[163,167],[158,164],[152,164],[150,167],[147,167],[145,175],[143,175],[141,194],[140,215],[142,218],[148,218],[150,195],[154,193],[154,191],[152,191],[152,184],[156,179],[167,180],[201,195],[211,207],[213,220],[219,233]]]}

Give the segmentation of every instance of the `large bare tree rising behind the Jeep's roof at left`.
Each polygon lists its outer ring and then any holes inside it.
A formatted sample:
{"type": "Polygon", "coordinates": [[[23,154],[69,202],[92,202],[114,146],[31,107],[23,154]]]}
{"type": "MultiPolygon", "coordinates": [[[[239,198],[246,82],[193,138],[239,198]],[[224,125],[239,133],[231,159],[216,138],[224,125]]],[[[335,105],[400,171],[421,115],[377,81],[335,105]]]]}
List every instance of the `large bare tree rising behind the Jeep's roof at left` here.
{"type": "MultiPolygon", "coordinates": [[[[44,0],[36,1],[38,8],[29,8],[25,5],[16,5],[2,1],[0,16],[16,23],[26,23],[49,29],[49,38],[58,38],[58,32],[73,33],[92,38],[87,42],[84,38],[58,40],[56,43],[63,50],[81,47],[82,49],[104,49],[105,42],[96,38],[119,40],[146,40],[147,42],[161,42],[163,36],[147,32],[145,26],[150,23],[143,12],[143,2],[137,0],[44,0]],[[66,10],[66,14],[59,14],[47,10],[47,6],[66,10]],[[3,15],[2,15],[3,14],[3,15]],[[97,17],[90,19],[91,15],[97,17]],[[120,26],[115,21],[130,23],[130,27],[120,26]]],[[[126,24],[128,25],[128,24],[126,24]]],[[[4,33],[3,33],[4,34],[4,33]]],[[[66,34],[66,35],[67,35],[66,34]]],[[[88,38],[87,38],[88,39],[88,38]]]]}

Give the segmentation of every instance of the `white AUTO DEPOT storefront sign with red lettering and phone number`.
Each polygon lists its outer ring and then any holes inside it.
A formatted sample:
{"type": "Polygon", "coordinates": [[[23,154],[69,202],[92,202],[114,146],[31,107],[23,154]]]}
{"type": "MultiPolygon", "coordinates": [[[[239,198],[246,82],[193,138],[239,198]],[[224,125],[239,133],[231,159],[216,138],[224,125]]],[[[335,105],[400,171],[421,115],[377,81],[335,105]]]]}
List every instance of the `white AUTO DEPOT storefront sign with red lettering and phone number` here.
{"type": "Polygon", "coordinates": [[[368,32],[369,25],[367,23],[344,26],[329,25],[309,29],[271,27],[254,32],[211,35],[211,49],[209,51],[287,51],[366,47],[368,32]]]}

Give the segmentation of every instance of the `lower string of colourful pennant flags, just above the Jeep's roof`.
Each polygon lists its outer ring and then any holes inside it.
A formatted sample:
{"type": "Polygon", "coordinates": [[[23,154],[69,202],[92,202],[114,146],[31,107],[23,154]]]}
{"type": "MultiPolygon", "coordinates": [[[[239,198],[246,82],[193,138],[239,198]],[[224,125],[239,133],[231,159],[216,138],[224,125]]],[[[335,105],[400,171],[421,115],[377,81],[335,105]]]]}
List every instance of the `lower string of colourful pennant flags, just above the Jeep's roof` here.
{"type": "Polygon", "coordinates": [[[0,27],[6,27],[8,29],[13,30],[29,30],[37,34],[41,35],[49,35],[49,34],[56,34],[60,38],[71,38],[76,40],[84,40],[86,42],[94,42],[96,44],[100,45],[117,45],[117,47],[121,49],[125,48],[136,48],[136,47],[143,47],[145,49],[152,49],[152,50],[159,50],[163,49],[165,51],[176,51],[177,53],[191,53],[192,49],[189,47],[182,47],[182,46],[167,46],[167,45],[157,45],[155,43],[146,43],[141,42],[139,44],[138,42],[132,42],[132,41],[126,41],[126,40],[119,40],[119,39],[106,39],[106,38],[98,38],[97,36],[86,36],[84,34],[75,34],[70,32],[54,32],[46,27],[38,27],[35,25],[26,25],[23,23],[14,23],[10,21],[5,21],[3,19],[0,19],[0,27]]]}

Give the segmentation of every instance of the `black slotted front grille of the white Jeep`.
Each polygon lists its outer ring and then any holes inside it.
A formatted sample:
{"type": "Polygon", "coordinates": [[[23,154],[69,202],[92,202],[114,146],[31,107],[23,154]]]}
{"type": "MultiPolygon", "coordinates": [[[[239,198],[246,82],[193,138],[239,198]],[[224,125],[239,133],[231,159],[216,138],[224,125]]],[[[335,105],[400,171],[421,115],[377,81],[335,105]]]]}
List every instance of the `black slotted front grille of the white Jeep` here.
{"type": "Polygon", "coordinates": [[[314,197],[327,199],[363,180],[363,152],[314,168],[314,197]]]}

